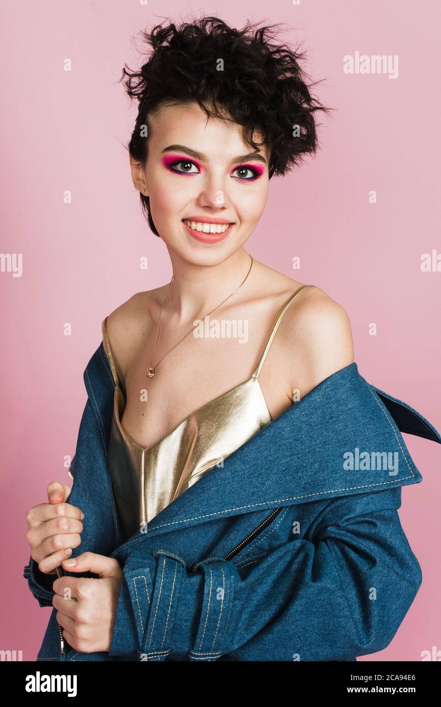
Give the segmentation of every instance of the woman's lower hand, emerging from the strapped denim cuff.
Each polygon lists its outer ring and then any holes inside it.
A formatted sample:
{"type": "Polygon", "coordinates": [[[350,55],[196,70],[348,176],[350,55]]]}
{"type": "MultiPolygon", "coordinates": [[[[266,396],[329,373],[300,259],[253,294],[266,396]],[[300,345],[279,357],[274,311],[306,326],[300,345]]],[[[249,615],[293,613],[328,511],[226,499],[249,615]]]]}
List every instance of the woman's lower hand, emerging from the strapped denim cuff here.
{"type": "Polygon", "coordinates": [[[80,653],[110,650],[122,580],[119,562],[84,552],[64,560],[63,567],[69,572],[92,572],[100,577],[65,576],[54,581],[52,604],[58,609],[57,621],[64,628],[64,638],[80,653]]]}

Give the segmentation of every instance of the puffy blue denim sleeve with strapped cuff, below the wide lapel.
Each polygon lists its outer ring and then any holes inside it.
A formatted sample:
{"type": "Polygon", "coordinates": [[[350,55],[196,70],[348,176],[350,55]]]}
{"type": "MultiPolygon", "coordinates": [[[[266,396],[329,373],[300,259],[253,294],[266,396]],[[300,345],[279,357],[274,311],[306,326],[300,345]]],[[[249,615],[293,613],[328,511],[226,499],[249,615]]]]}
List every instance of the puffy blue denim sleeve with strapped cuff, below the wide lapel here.
{"type": "Polygon", "coordinates": [[[400,505],[399,486],[333,498],[305,537],[243,566],[208,558],[192,572],[172,551],[143,557],[138,547],[124,564],[110,655],[350,660],[386,648],[422,580],[400,505]]]}

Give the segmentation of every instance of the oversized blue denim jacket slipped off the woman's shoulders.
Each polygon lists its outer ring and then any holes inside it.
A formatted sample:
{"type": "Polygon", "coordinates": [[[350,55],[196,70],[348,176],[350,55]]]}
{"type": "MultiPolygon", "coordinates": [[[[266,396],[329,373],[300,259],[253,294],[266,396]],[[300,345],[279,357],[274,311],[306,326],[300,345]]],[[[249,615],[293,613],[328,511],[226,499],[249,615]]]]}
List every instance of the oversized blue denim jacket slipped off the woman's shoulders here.
{"type": "Polygon", "coordinates": [[[441,443],[421,414],[351,363],[128,538],[102,343],[84,382],[69,503],[86,517],[72,556],[119,561],[117,617],[109,652],[61,654],[54,575],[30,558],[23,576],[52,607],[37,660],[356,660],[389,645],[422,580],[397,512],[401,486],[422,480],[400,431],[441,443]]]}

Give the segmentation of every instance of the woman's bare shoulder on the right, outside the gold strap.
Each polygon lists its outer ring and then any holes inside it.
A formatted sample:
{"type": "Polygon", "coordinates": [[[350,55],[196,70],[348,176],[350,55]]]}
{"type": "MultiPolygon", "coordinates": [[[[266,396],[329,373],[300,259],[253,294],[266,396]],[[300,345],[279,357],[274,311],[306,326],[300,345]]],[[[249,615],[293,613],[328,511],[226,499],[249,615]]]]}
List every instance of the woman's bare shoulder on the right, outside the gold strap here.
{"type": "Polygon", "coordinates": [[[290,386],[300,396],[354,361],[348,313],[322,288],[300,292],[286,312],[282,336],[290,386]]]}

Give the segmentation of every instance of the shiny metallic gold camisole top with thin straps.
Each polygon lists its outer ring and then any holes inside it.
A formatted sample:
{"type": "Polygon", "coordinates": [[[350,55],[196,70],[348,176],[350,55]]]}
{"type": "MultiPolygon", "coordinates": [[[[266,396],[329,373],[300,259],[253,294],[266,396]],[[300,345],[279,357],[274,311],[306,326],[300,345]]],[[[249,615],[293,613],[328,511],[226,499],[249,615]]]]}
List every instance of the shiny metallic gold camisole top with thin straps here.
{"type": "Polygon", "coordinates": [[[199,407],[147,448],[136,444],[122,428],[126,402],[119,387],[105,318],[105,346],[116,386],[107,456],[114,496],[127,537],[138,532],[208,469],[221,464],[271,422],[259,373],[283,315],[307,287],[312,285],[302,285],[279,312],[251,378],[199,407]]]}

